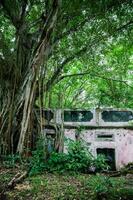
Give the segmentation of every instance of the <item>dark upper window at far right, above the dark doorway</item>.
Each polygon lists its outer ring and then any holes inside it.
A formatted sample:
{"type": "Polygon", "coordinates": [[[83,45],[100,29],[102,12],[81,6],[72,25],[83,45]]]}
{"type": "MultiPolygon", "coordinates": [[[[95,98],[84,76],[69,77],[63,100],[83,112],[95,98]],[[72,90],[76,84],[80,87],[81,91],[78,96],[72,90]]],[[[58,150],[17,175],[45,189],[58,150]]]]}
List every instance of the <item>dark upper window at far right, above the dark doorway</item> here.
{"type": "Polygon", "coordinates": [[[133,119],[131,111],[103,111],[102,119],[105,122],[128,122],[133,119]]]}

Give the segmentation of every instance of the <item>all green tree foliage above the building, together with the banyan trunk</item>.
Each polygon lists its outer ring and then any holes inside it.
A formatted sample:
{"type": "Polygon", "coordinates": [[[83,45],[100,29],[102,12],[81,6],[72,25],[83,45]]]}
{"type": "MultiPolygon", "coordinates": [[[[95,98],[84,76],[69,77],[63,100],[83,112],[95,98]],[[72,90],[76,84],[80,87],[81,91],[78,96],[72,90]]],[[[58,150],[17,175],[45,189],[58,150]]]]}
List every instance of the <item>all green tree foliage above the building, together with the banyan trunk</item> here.
{"type": "Polygon", "coordinates": [[[22,152],[33,107],[132,107],[133,2],[0,0],[0,137],[22,152]]]}

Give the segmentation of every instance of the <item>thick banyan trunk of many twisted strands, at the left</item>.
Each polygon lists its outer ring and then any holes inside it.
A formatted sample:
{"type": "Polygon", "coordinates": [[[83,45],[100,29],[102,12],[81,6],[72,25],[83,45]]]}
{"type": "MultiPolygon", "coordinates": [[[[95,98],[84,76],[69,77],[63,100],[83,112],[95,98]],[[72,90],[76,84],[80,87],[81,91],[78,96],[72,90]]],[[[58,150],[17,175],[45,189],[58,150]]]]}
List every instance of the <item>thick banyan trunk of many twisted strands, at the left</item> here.
{"type": "MultiPolygon", "coordinates": [[[[27,40],[28,34],[26,35],[24,30],[24,21],[23,23],[21,22],[22,26],[19,30],[17,27],[16,65],[20,68],[21,75],[19,76],[20,79],[17,81],[18,85],[15,87],[13,81],[14,90],[10,91],[10,87],[8,87],[8,91],[4,91],[3,89],[5,96],[0,96],[2,104],[0,105],[1,154],[7,153],[7,149],[8,153],[11,153],[11,137],[15,139],[16,137],[19,138],[17,151],[20,154],[23,152],[25,137],[28,134],[28,127],[31,121],[31,111],[34,106],[37,81],[39,81],[40,77],[40,67],[42,67],[43,63],[47,62],[47,52],[49,52],[48,50],[50,49],[50,41],[59,10],[59,0],[53,0],[52,2],[53,4],[51,4],[51,9],[44,22],[43,30],[40,32],[37,43],[32,50],[27,48],[26,51],[25,46],[23,46],[29,43],[27,40]],[[25,71],[22,70],[23,68],[25,71]]],[[[6,8],[5,4],[3,4],[3,6],[6,8]]],[[[5,88],[5,86],[3,88],[5,88]]]]}

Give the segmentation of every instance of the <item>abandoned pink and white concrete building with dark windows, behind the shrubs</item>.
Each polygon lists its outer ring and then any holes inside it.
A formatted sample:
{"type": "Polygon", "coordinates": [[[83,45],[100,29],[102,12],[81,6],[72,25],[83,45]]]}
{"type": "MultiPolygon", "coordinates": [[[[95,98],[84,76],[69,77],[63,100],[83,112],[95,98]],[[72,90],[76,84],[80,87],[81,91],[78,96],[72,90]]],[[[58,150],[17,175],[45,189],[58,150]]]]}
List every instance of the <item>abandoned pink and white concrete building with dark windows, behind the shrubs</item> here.
{"type": "MultiPolygon", "coordinates": [[[[120,169],[133,162],[133,111],[122,109],[46,110],[45,132],[49,147],[54,144],[55,129],[63,127],[65,139],[81,138],[90,152],[110,158],[111,168],[120,169]]],[[[63,140],[64,142],[65,140],[63,140]]],[[[67,146],[64,142],[63,151],[67,146]]]]}

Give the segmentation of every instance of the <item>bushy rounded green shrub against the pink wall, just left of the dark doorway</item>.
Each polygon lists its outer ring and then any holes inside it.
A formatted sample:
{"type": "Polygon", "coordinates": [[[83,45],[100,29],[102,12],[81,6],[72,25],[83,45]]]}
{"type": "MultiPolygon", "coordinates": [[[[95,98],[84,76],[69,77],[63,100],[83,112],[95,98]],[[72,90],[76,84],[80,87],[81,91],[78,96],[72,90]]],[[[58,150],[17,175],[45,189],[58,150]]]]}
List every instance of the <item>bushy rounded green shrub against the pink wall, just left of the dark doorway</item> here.
{"type": "Polygon", "coordinates": [[[104,156],[99,155],[97,158],[94,158],[82,141],[69,142],[67,154],[53,152],[46,166],[48,171],[59,173],[65,171],[87,173],[90,172],[92,166],[96,170],[107,168],[104,156]]]}

